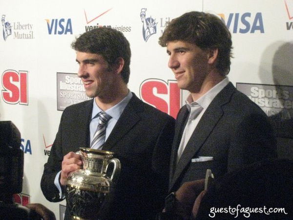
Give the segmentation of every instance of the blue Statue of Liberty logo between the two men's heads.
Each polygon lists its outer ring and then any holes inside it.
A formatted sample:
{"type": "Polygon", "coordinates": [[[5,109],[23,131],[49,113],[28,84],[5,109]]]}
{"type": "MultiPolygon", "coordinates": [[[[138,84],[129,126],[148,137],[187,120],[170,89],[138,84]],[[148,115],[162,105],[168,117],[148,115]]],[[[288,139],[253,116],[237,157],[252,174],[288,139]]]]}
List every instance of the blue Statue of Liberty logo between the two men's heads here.
{"type": "Polygon", "coordinates": [[[146,18],[146,8],[141,9],[140,13],[141,20],[143,22],[143,37],[145,42],[147,42],[148,38],[157,33],[157,24],[155,19],[151,16],[146,18]]]}

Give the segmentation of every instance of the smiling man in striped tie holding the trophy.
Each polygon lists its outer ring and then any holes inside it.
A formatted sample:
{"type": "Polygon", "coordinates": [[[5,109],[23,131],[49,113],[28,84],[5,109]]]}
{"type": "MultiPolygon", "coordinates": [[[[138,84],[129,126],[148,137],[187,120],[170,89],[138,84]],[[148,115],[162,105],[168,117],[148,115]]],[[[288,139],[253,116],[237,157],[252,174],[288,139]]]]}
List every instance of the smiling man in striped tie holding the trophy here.
{"type": "Polygon", "coordinates": [[[82,34],[72,47],[78,76],[93,99],[63,111],[44,165],[42,192],[49,201],[64,199],[68,174],[82,167],[75,153],[79,147],[111,151],[121,161],[121,174],[105,219],[153,219],[167,195],[174,119],[127,88],[131,52],[121,32],[97,28],[82,34]],[[101,114],[107,118],[103,138],[95,135],[101,114]]]}

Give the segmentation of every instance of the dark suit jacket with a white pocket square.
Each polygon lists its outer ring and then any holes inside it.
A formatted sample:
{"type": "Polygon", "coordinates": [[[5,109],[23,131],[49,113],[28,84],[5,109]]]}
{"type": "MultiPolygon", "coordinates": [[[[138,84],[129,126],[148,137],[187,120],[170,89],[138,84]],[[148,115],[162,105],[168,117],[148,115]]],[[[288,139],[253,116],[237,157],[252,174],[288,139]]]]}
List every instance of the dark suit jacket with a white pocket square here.
{"type": "Polygon", "coordinates": [[[176,191],[186,181],[205,178],[207,169],[211,169],[217,178],[245,164],[276,157],[268,117],[229,83],[210,103],[176,165],[188,113],[187,107],[182,107],[176,120],[169,192],[176,191]],[[199,156],[212,156],[213,160],[191,162],[192,158],[199,156]]]}

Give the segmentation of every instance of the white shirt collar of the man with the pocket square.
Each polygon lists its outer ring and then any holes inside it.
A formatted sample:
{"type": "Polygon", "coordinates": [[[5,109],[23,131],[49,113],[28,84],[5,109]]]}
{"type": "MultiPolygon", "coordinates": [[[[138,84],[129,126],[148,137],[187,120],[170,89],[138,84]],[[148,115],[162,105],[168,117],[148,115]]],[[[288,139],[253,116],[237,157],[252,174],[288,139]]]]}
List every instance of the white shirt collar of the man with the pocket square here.
{"type": "Polygon", "coordinates": [[[229,83],[229,78],[225,77],[221,82],[219,82],[213,88],[209,89],[208,92],[206,92],[202,97],[200,97],[196,101],[193,101],[191,94],[189,94],[186,101],[185,101],[188,111],[190,111],[191,107],[196,106],[196,105],[200,105],[204,109],[207,109],[209,107],[209,104],[216,97],[216,95],[223,88],[225,88],[228,85],[228,83],[229,83]]]}

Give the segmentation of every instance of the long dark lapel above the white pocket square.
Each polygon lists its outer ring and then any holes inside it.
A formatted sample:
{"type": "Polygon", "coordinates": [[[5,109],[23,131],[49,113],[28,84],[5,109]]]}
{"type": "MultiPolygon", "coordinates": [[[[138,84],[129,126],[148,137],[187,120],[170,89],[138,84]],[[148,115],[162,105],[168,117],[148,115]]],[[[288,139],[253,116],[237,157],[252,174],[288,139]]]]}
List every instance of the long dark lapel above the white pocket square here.
{"type": "MultiPolygon", "coordinates": [[[[186,169],[191,159],[195,156],[195,154],[198,152],[198,150],[202,147],[204,142],[207,140],[210,133],[216,126],[217,122],[223,116],[222,107],[230,101],[230,97],[234,91],[235,91],[235,87],[231,83],[229,83],[222,91],[220,91],[216,95],[216,97],[210,103],[208,109],[203,114],[196,129],[192,133],[186,145],[186,148],[174,171],[174,175],[173,175],[173,178],[171,179],[171,184],[169,188],[171,188],[175,184],[179,176],[184,172],[184,169],[186,169]]],[[[177,149],[178,149],[178,146],[177,146],[177,149]]]]}

